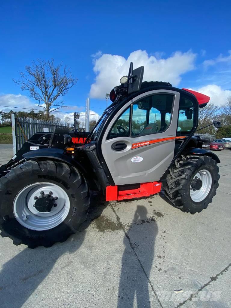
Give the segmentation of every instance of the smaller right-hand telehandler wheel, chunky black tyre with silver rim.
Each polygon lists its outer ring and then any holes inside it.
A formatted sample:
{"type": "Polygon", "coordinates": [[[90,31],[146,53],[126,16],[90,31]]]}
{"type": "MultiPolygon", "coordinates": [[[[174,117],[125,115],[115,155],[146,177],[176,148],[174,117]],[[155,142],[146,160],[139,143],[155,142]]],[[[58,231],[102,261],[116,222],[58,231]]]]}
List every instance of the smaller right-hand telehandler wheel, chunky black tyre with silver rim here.
{"type": "Polygon", "coordinates": [[[183,212],[200,213],[216,195],[218,172],[216,161],[209,156],[181,156],[169,169],[165,196],[183,212]],[[196,179],[202,182],[199,189],[194,187],[196,179]]]}

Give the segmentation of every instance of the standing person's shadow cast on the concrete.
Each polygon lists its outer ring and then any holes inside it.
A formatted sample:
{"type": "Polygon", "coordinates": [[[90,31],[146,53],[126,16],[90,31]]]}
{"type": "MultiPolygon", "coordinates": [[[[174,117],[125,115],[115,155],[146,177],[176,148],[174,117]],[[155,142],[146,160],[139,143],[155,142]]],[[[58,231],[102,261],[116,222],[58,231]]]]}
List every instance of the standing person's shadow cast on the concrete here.
{"type": "Polygon", "coordinates": [[[148,278],[154,258],[154,244],[158,227],[156,221],[146,223],[148,221],[147,215],[147,209],[138,205],[131,228],[124,235],[125,250],[122,256],[117,308],[133,307],[135,297],[136,307],[152,306],[149,296],[151,286],[148,278]],[[148,241],[148,237],[151,237],[152,240],[148,241]],[[139,252],[143,250],[148,250],[148,253],[146,259],[141,263],[139,252]]]}

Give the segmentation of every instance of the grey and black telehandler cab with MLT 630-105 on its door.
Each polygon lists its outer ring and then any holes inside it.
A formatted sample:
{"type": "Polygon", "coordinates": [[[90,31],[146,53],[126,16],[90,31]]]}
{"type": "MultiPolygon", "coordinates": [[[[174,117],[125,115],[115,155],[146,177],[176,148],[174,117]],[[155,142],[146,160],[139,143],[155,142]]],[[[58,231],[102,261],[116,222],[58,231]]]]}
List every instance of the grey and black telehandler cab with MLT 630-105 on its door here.
{"type": "MultiPolygon", "coordinates": [[[[131,63],[86,140],[115,185],[159,181],[197,128],[197,92],[142,82],[143,74],[144,67],[133,70],[131,63]]],[[[205,106],[209,97],[201,97],[205,106]]]]}

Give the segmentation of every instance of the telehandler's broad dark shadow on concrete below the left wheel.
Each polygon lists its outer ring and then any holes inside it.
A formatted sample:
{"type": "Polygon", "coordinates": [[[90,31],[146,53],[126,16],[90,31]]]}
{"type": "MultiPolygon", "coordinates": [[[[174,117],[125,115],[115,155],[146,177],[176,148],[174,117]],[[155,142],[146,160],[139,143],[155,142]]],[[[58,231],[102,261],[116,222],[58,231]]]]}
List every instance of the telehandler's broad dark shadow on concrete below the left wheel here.
{"type": "MultiPolygon", "coordinates": [[[[91,222],[99,217],[107,205],[100,202],[98,195],[91,197],[91,205],[87,220],[80,227],[80,231],[71,235],[66,242],[56,243],[50,248],[24,248],[12,259],[6,262],[0,272],[1,308],[20,308],[37,287],[50,274],[56,261],[63,254],[75,253],[84,242],[85,230],[91,222]]],[[[13,245],[11,242],[10,245],[13,245]]],[[[9,247],[10,249],[10,247],[9,247]]],[[[67,261],[68,262],[68,261],[67,261]]],[[[69,261],[70,262],[70,261],[69,261]]],[[[52,290],[51,294],[52,294],[52,290]]],[[[37,296],[37,295],[36,295],[37,296]]],[[[38,296],[41,296],[41,294],[38,296]]]]}

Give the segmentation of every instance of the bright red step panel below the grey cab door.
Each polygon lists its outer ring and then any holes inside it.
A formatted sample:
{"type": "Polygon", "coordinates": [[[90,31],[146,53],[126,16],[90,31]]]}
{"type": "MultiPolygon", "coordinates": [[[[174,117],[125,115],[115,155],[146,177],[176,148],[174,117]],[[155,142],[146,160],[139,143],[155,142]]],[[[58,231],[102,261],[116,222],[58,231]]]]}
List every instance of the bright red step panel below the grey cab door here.
{"type": "Polygon", "coordinates": [[[118,186],[107,186],[106,188],[106,201],[124,200],[132,198],[149,197],[159,193],[161,184],[158,182],[141,183],[137,189],[121,190],[118,191],[118,186]]]}

